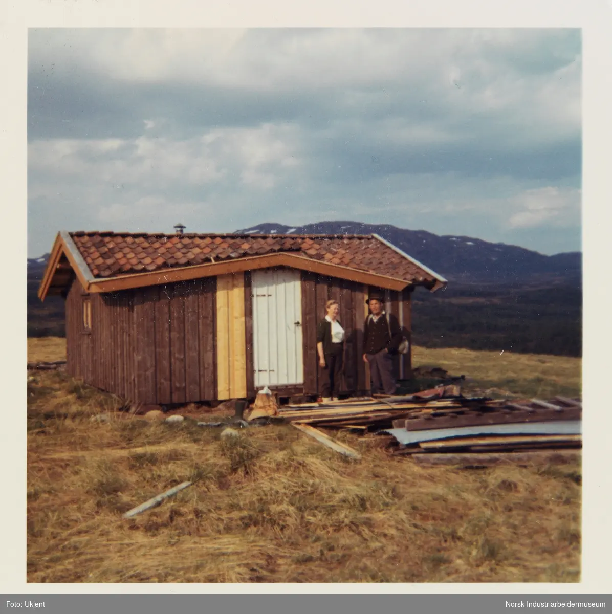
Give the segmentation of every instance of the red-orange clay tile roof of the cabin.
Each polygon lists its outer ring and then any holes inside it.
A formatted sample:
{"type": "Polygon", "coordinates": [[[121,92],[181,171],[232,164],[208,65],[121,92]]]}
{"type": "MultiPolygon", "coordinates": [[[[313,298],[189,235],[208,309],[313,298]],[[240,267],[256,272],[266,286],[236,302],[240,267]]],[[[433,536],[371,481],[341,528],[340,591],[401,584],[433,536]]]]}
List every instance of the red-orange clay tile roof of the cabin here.
{"type": "Polygon", "coordinates": [[[72,241],[98,279],[289,252],[413,283],[436,278],[372,235],[150,235],[73,232],[72,241]]]}

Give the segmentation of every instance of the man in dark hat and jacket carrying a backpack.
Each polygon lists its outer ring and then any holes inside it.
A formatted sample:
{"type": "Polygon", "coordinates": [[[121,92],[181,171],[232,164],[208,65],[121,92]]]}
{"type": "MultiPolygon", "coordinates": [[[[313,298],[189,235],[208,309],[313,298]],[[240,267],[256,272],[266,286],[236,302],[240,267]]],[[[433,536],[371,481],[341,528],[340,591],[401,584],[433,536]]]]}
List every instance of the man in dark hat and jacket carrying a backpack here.
{"type": "Polygon", "coordinates": [[[392,356],[401,342],[400,323],[393,314],[385,313],[381,294],[371,293],[366,303],[370,315],[363,327],[363,360],[370,364],[372,393],[395,394],[397,384],[393,377],[392,356]]]}

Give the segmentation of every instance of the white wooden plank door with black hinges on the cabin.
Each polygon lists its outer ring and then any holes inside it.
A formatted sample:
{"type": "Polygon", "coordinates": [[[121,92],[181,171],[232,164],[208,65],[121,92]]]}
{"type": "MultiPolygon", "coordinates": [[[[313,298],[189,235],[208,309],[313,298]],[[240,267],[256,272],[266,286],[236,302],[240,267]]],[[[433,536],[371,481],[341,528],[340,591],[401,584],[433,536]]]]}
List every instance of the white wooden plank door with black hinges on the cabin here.
{"type": "Polygon", "coordinates": [[[251,289],[255,387],[303,384],[300,271],[253,271],[251,289]]]}

